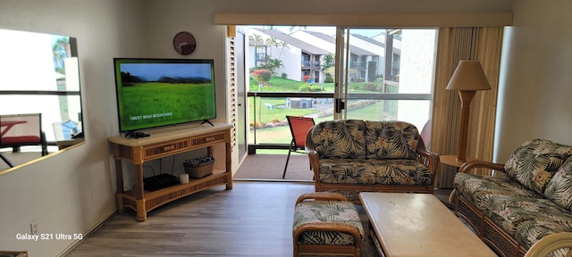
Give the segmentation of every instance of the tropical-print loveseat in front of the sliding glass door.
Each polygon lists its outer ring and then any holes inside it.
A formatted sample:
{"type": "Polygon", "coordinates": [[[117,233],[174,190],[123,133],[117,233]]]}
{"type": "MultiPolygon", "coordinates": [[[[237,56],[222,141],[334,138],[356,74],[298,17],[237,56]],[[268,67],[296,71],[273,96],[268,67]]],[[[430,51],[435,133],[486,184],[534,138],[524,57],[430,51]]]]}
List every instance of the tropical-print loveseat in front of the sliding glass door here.
{"type": "Polygon", "coordinates": [[[359,204],[362,191],[433,193],[439,156],[408,122],[328,120],[307,133],[316,192],[359,204]]]}

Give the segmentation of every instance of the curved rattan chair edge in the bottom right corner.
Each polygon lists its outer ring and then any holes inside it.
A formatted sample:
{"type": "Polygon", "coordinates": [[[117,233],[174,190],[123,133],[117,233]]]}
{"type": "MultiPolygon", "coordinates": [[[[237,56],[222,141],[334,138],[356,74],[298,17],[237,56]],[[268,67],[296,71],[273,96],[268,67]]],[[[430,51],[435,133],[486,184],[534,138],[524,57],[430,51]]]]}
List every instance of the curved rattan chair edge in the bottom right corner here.
{"type": "Polygon", "coordinates": [[[563,248],[568,248],[566,256],[572,256],[572,233],[559,232],[544,236],[526,251],[525,257],[551,256],[552,252],[563,248]]]}

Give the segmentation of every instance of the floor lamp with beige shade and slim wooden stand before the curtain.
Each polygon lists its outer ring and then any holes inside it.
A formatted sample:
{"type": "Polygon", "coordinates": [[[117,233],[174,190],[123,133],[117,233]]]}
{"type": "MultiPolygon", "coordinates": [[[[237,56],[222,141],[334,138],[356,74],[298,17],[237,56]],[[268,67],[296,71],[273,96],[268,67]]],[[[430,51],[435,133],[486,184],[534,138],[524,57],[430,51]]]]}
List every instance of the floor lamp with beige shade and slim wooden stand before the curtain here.
{"type": "Polygon", "coordinates": [[[461,99],[461,128],[458,133],[457,162],[467,160],[468,117],[471,100],[476,91],[489,90],[491,86],[484,76],[481,62],[463,60],[458,62],[457,69],[450,78],[447,90],[458,90],[461,99]]]}

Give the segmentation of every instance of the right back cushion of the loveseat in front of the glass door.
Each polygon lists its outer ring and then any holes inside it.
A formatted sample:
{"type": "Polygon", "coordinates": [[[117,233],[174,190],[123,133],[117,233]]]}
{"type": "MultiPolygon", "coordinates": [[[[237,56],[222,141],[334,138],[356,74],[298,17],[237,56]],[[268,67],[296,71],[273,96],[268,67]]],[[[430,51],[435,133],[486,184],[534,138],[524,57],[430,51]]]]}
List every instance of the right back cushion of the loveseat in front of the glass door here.
{"type": "Polygon", "coordinates": [[[419,131],[403,121],[366,121],[369,159],[417,159],[419,131]]]}

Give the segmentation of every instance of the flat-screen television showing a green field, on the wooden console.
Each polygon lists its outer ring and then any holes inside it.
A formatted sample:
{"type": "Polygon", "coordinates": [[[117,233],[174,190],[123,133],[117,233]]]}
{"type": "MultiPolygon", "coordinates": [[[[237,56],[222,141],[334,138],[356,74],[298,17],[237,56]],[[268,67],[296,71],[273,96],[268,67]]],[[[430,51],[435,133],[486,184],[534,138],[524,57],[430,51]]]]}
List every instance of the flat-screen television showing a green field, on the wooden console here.
{"type": "Polygon", "coordinates": [[[114,58],[119,130],[216,118],[214,61],[114,58]]]}

